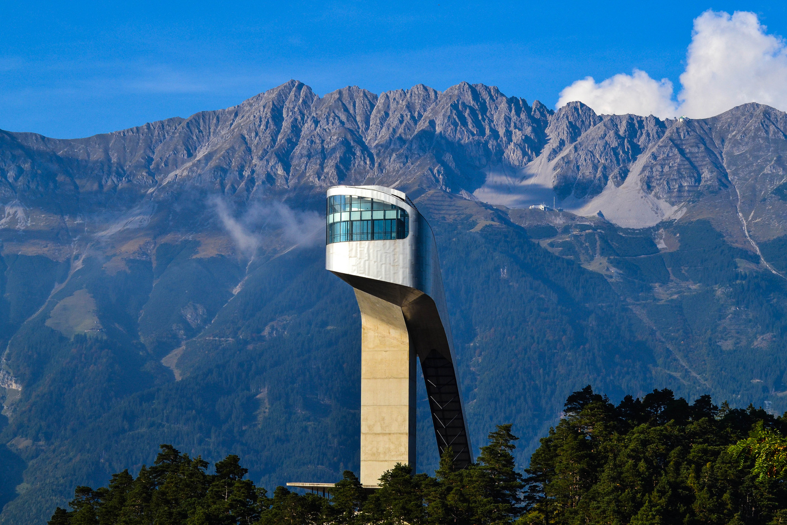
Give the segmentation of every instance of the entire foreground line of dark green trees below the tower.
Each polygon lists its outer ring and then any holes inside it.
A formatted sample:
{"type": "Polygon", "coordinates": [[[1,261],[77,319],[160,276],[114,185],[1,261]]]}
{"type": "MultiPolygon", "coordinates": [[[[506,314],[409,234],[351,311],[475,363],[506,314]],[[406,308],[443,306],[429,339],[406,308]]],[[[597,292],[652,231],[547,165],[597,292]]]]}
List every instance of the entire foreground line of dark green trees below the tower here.
{"type": "Polygon", "coordinates": [[[283,486],[269,494],[244,479],[238,456],[210,469],[161,445],[136,478],[125,470],[108,487],[77,487],[71,510],[57,508],[49,523],[787,523],[787,414],[719,407],[707,395],[689,404],[668,389],[613,405],[590,386],[563,414],[527,468],[504,424],[469,468],[454,468],[447,449],[434,476],[397,464],[372,492],[345,471],[328,498],[283,486]]]}

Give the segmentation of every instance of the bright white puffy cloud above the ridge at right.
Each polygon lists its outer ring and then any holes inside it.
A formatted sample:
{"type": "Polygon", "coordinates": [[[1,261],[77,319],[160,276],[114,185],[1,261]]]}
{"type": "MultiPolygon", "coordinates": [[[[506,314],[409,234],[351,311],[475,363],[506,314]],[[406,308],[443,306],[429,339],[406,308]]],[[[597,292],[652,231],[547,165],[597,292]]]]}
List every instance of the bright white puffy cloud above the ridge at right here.
{"type": "Polygon", "coordinates": [[[694,20],[682,90],[673,96],[668,79],[652,79],[646,72],[619,74],[597,83],[577,80],[560,92],[557,107],[585,102],[597,113],[718,115],[746,102],[787,110],[787,44],[768,35],[755,13],[706,11],[694,20]]]}

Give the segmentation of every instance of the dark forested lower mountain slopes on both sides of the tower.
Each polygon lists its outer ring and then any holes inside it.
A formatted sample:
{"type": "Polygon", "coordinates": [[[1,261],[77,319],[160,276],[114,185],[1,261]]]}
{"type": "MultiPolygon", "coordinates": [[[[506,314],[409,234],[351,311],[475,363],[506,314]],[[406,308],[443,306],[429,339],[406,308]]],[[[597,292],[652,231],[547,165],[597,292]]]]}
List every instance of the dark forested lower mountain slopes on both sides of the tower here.
{"type": "MultiPolygon", "coordinates": [[[[785,281],[756,267],[752,252],[728,249],[707,223],[630,231],[593,220],[566,224],[540,244],[497,209],[442,193],[417,205],[438,242],[476,446],[494,422],[511,421],[522,438],[516,459],[526,464],[557,424],[560,401],[587,383],[615,403],[666,386],[687,399],[709,392],[736,408],[787,408],[785,281]],[[463,209],[498,224],[478,229],[463,209]],[[645,254],[661,230],[669,249],[645,254]],[[700,250],[693,235],[708,237],[700,250]],[[552,240],[567,251],[550,248],[552,240]],[[689,278],[704,265],[722,268],[720,279],[689,278]]],[[[6,464],[0,454],[9,475],[0,482],[2,525],[41,525],[76,486],[98,486],[124,468],[136,474],[155,459],[151,443],[212,463],[236,454],[248,477],[271,489],[357,470],[352,289],[325,271],[323,246],[292,248],[260,235],[250,264],[204,257],[212,253],[206,246],[189,236],[175,243],[174,235],[114,266],[101,250],[73,261],[3,255],[4,369],[23,390],[0,388],[9,416],[0,416],[0,443],[9,444],[6,464]],[[202,275],[196,291],[192,273],[202,275]],[[79,290],[94,298],[98,337],[71,338],[45,324],[57,301],[79,290]],[[11,304],[20,324],[9,321],[11,304]],[[161,363],[173,348],[182,352],[167,361],[175,370],[161,363]]],[[[416,472],[432,473],[441,458],[419,392],[416,472]]],[[[462,516],[470,492],[457,491],[452,512],[462,516]]]]}

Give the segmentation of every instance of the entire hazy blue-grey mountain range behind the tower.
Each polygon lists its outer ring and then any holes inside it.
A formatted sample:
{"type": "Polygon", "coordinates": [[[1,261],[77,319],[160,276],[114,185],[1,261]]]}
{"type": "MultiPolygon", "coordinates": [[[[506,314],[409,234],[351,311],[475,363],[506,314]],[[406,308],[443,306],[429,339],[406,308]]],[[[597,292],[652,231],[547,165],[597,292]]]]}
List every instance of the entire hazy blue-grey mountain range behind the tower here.
{"type": "Polygon", "coordinates": [[[757,104],[659,120],[296,81],[87,139],[0,131],[0,523],[45,523],[163,442],[269,488],[357,471],[337,183],[405,190],[434,227],[476,445],[512,422],[526,461],[588,383],[782,412],[785,131],[757,104]]]}

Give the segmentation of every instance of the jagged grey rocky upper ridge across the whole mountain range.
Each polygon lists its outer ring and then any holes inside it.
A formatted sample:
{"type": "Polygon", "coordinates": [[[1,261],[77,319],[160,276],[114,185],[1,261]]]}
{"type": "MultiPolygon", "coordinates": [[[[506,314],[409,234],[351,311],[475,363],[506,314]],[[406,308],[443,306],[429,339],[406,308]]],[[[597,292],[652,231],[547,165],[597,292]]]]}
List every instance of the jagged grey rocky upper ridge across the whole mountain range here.
{"type": "Polygon", "coordinates": [[[482,84],[380,95],[345,87],[319,97],[290,80],[228,109],[86,139],[2,131],[0,200],[73,216],[183,195],[246,205],[373,183],[507,205],[495,196],[519,192],[526,207],[553,196],[575,213],[600,210],[645,227],[726,195],[728,211],[754,213],[753,235],[774,238],[785,234],[785,124],[785,113],[754,103],[704,120],[660,120],[597,115],[581,102],[553,112],[482,84]],[[656,212],[620,211],[637,199],[656,212]]]}

